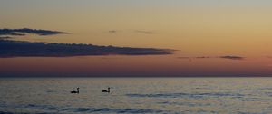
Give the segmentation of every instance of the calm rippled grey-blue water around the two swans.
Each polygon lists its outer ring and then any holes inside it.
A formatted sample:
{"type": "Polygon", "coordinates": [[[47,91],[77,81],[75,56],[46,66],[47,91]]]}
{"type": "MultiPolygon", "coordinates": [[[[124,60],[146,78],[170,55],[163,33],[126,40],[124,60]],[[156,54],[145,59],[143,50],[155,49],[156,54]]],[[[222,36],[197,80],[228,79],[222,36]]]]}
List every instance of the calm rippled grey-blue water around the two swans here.
{"type": "Polygon", "coordinates": [[[0,79],[0,90],[0,113],[272,113],[272,78],[0,79]]]}

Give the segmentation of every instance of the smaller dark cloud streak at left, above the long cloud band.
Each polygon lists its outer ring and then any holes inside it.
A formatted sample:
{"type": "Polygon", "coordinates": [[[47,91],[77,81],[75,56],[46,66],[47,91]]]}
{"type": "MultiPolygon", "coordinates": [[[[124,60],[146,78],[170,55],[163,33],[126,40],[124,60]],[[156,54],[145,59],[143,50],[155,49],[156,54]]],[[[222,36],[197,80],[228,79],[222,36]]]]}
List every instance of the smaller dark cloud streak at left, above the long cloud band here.
{"type": "Polygon", "coordinates": [[[0,29],[0,35],[15,35],[15,36],[24,36],[27,33],[37,34],[37,35],[55,35],[61,34],[63,32],[50,31],[50,30],[41,30],[41,29],[0,29]]]}

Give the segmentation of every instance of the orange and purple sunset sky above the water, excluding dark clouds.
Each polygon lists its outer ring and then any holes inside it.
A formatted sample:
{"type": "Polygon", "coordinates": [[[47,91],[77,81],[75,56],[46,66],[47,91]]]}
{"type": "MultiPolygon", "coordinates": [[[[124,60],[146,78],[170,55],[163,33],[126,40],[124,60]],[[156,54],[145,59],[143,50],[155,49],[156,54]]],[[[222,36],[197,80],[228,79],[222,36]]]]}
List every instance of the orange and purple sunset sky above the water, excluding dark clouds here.
{"type": "Polygon", "coordinates": [[[28,55],[22,56],[13,50],[13,56],[0,58],[0,76],[272,76],[271,5],[270,0],[1,0],[1,31],[61,32],[1,36],[0,31],[0,37],[11,37],[5,40],[42,42],[47,50],[52,47],[46,43],[119,50],[89,56],[74,56],[74,50],[36,55],[32,48],[22,49],[28,55]],[[132,55],[127,47],[144,54],[132,55]],[[149,48],[171,50],[153,54],[149,48]]]}

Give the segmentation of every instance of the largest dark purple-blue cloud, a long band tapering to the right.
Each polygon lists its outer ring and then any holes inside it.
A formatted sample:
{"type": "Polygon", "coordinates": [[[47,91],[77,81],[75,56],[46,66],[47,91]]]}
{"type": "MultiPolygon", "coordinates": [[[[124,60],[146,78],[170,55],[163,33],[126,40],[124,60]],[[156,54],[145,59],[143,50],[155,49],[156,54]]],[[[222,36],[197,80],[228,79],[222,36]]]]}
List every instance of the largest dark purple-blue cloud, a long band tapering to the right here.
{"type": "Polygon", "coordinates": [[[71,43],[30,43],[0,40],[0,57],[65,57],[83,55],[163,55],[174,50],[97,46],[71,43]]]}

